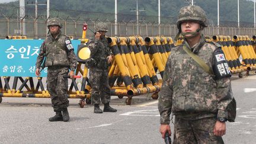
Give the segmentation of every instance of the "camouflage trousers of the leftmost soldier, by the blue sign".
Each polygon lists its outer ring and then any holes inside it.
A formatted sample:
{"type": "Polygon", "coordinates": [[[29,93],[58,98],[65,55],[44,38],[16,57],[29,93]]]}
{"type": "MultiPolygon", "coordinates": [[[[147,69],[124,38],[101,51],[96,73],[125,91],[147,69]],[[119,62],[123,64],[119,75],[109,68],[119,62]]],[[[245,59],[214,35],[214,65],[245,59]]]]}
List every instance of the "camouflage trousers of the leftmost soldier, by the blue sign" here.
{"type": "Polygon", "coordinates": [[[69,69],[63,66],[51,66],[47,71],[47,90],[52,99],[53,110],[62,111],[69,106],[68,79],[63,78],[68,75],[69,69]]]}

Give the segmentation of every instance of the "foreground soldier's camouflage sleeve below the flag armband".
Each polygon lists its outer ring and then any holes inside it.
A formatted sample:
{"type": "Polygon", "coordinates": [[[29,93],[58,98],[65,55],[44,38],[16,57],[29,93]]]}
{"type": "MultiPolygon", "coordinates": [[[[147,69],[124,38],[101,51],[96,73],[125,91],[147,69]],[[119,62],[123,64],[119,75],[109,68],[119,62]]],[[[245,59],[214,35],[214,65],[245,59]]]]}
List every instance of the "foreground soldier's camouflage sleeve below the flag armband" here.
{"type": "Polygon", "coordinates": [[[229,77],[222,79],[217,79],[217,117],[228,118],[228,111],[226,108],[228,104],[231,103],[233,98],[233,93],[231,89],[231,80],[229,77]]]}

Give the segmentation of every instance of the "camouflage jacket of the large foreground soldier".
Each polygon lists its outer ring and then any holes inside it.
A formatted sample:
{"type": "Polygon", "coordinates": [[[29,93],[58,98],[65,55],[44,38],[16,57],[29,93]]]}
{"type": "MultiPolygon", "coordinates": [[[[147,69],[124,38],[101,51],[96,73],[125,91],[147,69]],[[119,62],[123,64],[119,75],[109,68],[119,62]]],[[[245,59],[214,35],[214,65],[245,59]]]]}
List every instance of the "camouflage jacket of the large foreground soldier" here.
{"type": "MultiPolygon", "coordinates": [[[[190,49],[187,41],[184,42],[190,49]]],[[[213,52],[217,44],[206,42],[202,36],[193,52],[212,68],[213,52]]],[[[171,112],[183,119],[202,119],[204,117],[228,118],[227,105],[232,101],[229,77],[215,79],[201,68],[183,50],[183,44],[172,48],[165,66],[158,110],[161,124],[169,124],[171,112]]]]}

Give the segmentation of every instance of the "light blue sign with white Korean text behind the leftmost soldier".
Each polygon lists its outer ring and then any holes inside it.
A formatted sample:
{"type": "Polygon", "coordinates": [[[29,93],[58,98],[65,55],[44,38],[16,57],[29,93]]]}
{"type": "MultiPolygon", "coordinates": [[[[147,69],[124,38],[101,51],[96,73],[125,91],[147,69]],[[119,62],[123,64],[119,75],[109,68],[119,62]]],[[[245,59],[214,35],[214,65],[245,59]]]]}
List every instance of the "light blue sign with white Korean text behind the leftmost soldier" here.
{"type": "MultiPolygon", "coordinates": [[[[0,76],[35,77],[36,60],[44,40],[0,40],[0,76]]],[[[71,40],[75,53],[80,40],[71,40]]],[[[47,68],[41,71],[47,76],[47,68]]]]}

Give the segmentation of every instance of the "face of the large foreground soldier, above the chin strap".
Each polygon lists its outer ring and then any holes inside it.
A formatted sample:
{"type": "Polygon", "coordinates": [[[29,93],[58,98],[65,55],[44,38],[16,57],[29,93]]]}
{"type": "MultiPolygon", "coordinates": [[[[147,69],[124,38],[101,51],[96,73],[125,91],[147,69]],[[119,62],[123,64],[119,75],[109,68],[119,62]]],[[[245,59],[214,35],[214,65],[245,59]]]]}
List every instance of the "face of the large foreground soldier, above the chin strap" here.
{"type": "MultiPolygon", "coordinates": [[[[181,23],[181,31],[183,33],[196,32],[196,30],[200,28],[200,24],[195,21],[184,21],[181,23]]],[[[186,34],[186,37],[192,36],[192,34],[186,34]]]]}

